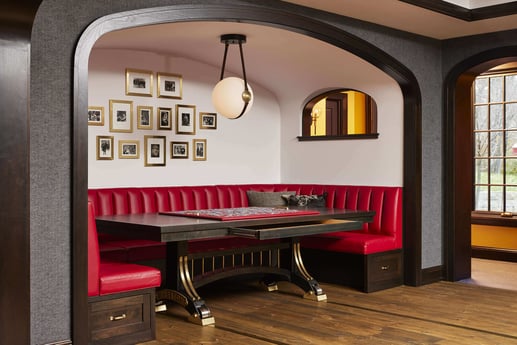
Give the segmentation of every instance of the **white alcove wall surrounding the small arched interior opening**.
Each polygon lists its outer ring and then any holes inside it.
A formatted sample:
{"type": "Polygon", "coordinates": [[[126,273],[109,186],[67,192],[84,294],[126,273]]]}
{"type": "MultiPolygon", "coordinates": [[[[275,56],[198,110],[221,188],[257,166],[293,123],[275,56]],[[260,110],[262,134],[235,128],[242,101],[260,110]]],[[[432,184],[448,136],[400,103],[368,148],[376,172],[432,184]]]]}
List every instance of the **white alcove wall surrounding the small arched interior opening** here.
{"type": "Polygon", "coordinates": [[[282,182],[402,186],[403,99],[398,84],[346,52],[340,61],[318,68],[318,77],[298,76],[299,87],[279,98],[282,182]],[[367,93],[376,101],[379,138],[299,142],[305,103],[317,93],[343,87],[367,93]]]}

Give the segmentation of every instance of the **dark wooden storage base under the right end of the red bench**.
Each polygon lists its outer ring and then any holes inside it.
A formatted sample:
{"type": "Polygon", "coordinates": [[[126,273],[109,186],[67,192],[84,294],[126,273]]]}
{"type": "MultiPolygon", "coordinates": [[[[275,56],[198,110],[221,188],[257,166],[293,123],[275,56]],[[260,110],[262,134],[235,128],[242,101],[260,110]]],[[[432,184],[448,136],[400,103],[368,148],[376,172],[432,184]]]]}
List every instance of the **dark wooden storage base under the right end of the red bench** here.
{"type": "Polygon", "coordinates": [[[402,250],[368,255],[302,248],[308,271],[320,282],[374,292],[403,284],[402,250]]]}

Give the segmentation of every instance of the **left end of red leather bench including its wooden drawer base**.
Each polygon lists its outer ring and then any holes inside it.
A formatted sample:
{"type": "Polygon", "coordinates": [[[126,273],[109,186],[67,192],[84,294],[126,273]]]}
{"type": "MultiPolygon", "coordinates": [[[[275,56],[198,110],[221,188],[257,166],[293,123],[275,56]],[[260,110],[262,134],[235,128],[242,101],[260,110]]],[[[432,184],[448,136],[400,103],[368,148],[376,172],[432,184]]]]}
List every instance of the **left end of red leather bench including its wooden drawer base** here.
{"type": "Polygon", "coordinates": [[[160,270],[154,267],[101,260],[93,205],[88,203],[89,344],[153,340],[154,289],[160,284],[160,270]]]}

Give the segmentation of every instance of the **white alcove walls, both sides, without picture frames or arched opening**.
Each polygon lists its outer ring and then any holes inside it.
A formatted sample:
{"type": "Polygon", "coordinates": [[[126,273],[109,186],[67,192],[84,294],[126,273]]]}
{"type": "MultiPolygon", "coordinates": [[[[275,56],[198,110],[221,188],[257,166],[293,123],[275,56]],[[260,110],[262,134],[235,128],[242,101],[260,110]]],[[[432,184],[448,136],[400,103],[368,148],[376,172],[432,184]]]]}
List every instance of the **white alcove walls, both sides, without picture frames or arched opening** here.
{"type": "MultiPolygon", "coordinates": [[[[334,48],[335,49],[335,48],[334,48]]],[[[330,55],[330,54],[328,54],[330,55]]],[[[293,87],[273,95],[250,81],[255,100],[238,120],[218,116],[217,130],[195,135],[156,129],[156,107],[196,105],[197,112],[214,112],[211,91],[219,67],[184,58],[140,51],[94,49],[90,57],[89,103],[105,107],[105,125],[89,126],[89,187],[196,185],[222,183],[335,183],[402,186],[403,102],[398,84],[374,66],[342,52],[338,61],[318,65],[319,74],[278,76],[293,79],[293,87]],[[336,67],[338,66],[338,67],[336,67]],[[183,76],[183,99],[125,95],[125,68],[183,76]],[[308,78],[308,77],[307,77],[308,78]],[[378,139],[299,142],[302,108],[315,94],[329,88],[351,88],[377,102],[378,139]],[[278,100],[277,98],[278,97],[278,100]],[[133,133],[109,132],[109,100],[133,100],[133,133]],[[154,129],[136,129],[136,106],[151,105],[154,129]],[[115,137],[113,161],[96,160],[96,136],[115,137]],[[144,135],[167,136],[165,167],[144,166],[144,135]],[[207,161],[170,159],[170,141],[207,139],[207,161]],[[139,140],[140,159],[119,159],[118,140],[139,140]]],[[[155,75],[156,83],[156,75],[155,75]]],[[[198,118],[196,118],[196,121],[198,118]]]]}

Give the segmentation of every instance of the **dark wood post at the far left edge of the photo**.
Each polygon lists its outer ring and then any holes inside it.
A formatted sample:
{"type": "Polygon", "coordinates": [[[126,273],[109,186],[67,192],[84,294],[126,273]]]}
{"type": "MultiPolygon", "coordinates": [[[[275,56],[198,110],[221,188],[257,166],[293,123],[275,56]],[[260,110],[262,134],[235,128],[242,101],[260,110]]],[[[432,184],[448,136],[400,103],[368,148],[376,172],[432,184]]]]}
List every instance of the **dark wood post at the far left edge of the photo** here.
{"type": "Polygon", "coordinates": [[[0,344],[29,344],[31,340],[27,157],[30,40],[38,6],[39,1],[0,4],[0,344]]]}

